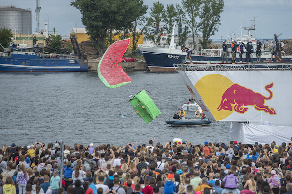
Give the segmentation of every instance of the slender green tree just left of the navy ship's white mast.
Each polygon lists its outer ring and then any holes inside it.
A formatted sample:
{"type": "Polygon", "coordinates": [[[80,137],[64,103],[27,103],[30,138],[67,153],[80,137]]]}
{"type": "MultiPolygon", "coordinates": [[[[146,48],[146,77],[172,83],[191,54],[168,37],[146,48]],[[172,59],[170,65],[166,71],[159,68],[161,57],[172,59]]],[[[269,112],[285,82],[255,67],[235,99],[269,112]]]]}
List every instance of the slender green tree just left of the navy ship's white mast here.
{"type": "Polygon", "coordinates": [[[157,1],[150,8],[150,17],[146,18],[146,35],[154,44],[160,44],[161,34],[164,31],[161,25],[164,12],[164,5],[157,1]]]}

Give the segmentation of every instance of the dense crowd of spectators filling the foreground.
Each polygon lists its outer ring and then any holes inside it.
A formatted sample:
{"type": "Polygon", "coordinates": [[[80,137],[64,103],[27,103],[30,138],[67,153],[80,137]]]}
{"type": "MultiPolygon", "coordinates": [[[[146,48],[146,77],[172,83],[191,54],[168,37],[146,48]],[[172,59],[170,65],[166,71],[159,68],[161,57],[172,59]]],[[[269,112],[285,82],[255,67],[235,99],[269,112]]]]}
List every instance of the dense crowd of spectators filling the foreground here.
{"type": "Polygon", "coordinates": [[[0,149],[0,194],[292,194],[291,172],[291,142],[0,149]]]}

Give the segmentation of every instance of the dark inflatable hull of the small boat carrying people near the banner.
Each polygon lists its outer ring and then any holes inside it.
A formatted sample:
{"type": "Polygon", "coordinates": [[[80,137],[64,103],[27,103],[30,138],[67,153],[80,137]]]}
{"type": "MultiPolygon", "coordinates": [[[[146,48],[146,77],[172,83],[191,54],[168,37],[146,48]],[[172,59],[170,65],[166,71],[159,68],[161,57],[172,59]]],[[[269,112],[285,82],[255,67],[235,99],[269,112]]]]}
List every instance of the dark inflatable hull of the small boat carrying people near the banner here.
{"type": "Polygon", "coordinates": [[[167,124],[171,126],[204,126],[212,123],[210,119],[167,119],[167,124]]]}

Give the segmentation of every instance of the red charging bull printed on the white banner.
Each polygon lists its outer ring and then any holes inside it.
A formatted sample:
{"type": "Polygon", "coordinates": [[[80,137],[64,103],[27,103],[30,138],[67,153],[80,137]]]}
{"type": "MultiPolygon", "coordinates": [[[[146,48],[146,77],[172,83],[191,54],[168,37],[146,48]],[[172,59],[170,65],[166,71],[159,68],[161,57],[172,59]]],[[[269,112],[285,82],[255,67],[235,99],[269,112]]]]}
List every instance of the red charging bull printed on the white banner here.
{"type": "Polygon", "coordinates": [[[239,84],[232,84],[223,93],[221,103],[217,110],[235,111],[244,114],[249,109],[247,106],[254,106],[257,111],[264,111],[270,115],[276,115],[274,108],[265,105],[265,101],[273,97],[273,93],[270,90],[272,87],[273,83],[265,86],[265,90],[270,94],[268,97],[265,97],[239,84]]]}

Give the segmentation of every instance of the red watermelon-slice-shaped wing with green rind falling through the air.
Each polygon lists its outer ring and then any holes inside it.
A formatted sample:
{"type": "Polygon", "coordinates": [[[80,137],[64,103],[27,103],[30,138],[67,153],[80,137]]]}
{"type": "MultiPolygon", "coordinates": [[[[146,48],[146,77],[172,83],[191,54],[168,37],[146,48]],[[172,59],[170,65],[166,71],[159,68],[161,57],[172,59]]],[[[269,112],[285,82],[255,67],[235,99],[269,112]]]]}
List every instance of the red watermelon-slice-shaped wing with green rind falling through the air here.
{"type": "Polygon", "coordinates": [[[123,71],[122,66],[118,65],[129,44],[130,38],[114,42],[99,61],[98,77],[109,88],[118,88],[131,82],[131,78],[123,71]]]}

